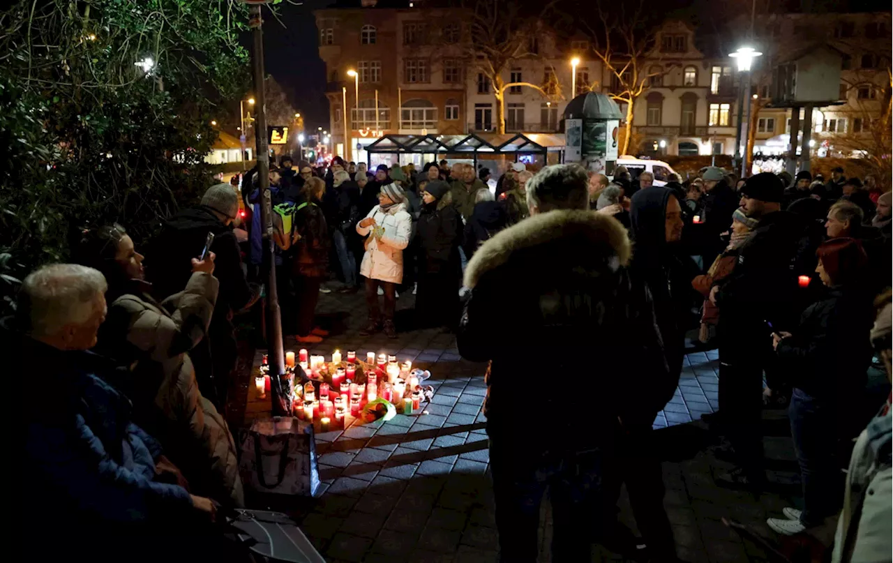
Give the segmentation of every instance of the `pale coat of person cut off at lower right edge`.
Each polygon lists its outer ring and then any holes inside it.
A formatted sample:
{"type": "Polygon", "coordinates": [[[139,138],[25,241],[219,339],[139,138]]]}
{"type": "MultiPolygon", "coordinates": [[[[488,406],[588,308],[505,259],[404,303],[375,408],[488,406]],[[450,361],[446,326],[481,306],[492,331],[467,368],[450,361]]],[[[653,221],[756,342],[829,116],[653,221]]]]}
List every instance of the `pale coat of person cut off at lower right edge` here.
{"type": "Polygon", "coordinates": [[[889,561],[893,536],[893,409],[890,401],[855,441],[831,563],[889,561]]]}

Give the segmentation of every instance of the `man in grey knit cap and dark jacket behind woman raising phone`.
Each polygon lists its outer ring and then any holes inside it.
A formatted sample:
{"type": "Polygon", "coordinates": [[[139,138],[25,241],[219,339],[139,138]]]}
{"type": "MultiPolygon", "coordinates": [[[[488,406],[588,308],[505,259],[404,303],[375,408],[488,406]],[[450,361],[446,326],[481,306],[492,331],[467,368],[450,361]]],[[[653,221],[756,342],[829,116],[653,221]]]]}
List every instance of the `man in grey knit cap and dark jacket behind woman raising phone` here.
{"type": "Polygon", "coordinates": [[[196,380],[204,397],[212,399],[218,409],[224,408],[230,383],[230,372],[236,366],[233,312],[246,307],[257,297],[248,287],[242,270],[232,222],[238,214],[238,195],[229,184],[217,184],[204,192],[202,205],[174,214],[153,242],[154,263],[146,262],[146,273],[154,284],[157,298],[166,298],[186,287],[192,274],[191,258],[199,256],[204,241],[214,234],[211,251],[214,277],[220,281],[220,292],[214,306],[211,324],[204,339],[189,352],[196,368],[196,380]]]}

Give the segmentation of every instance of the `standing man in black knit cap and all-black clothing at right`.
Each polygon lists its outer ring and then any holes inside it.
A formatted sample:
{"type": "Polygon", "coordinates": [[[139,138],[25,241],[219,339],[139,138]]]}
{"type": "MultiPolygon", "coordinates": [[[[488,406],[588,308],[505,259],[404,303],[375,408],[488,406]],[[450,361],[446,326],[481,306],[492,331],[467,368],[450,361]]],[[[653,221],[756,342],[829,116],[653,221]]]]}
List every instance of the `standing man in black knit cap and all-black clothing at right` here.
{"type": "Polygon", "coordinates": [[[772,332],[797,322],[797,274],[791,270],[804,234],[797,215],[781,211],[784,186],[763,172],[741,188],[741,206],[758,219],[753,235],[739,250],[738,265],[711,290],[720,307],[720,390],[722,422],[739,459],[739,468],[722,475],[724,485],[764,482],[760,433],[763,370],[772,358],[772,332]],[[771,324],[771,325],[770,325],[771,324]]]}

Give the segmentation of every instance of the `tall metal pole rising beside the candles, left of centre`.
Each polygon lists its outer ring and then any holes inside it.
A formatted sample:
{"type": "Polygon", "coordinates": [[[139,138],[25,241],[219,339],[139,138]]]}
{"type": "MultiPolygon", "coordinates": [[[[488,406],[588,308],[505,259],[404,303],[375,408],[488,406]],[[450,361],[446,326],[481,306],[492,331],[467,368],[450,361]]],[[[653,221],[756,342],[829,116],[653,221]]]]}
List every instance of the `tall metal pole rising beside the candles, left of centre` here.
{"type": "MultiPolygon", "coordinates": [[[[267,144],[267,113],[265,107],[265,93],[263,88],[263,20],[261,19],[261,6],[252,5],[249,8],[250,15],[248,27],[252,29],[255,49],[252,52],[252,67],[255,79],[255,96],[257,100],[257,113],[255,117],[255,143],[257,144],[257,176],[261,197],[261,225],[266,236],[266,245],[263,245],[263,263],[269,264],[270,276],[267,278],[267,353],[270,355],[270,369],[276,375],[271,377],[271,403],[273,415],[287,415],[291,407],[288,399],[290,390],[282,389],[282,376],[285,374],[285,354],[282,352],[282,322],[279,307],[279,293],[276,289],[276,260],[275,242],[273,241],[273,218],[270,194],[270,150],[267,144]],[[288,401],[288,403],[287,403],[288,401]],[[288,404],[288,407],[287,407],[288,404]]],[[[271,374],[273,375],[273,374],[271,374]]]]}

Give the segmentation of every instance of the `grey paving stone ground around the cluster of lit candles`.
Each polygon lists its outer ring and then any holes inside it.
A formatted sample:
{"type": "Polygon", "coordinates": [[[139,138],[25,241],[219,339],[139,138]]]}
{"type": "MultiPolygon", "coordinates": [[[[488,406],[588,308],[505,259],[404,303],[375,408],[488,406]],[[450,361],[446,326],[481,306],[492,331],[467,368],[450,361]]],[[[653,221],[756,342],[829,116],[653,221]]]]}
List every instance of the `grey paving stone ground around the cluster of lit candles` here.
{"type": "MultiPolygon", "coordinates": [[[[430,369],[436,388],[430,404],[412,416],[383,423],[354,424],[345,431],[316,435],[321,489],[306,506],[290,511],[327,561],[462,563],[497,560],[494,504],[488,476],[488,442],[481,405],[486,393],[484,366],[459,357],[455,337],[437,329],[407,330],[413,297],[401,295],[398,338],[358,334],[365,321],[362,294],[321,295],[319,323],[331,330],[312,354],[334,349],[395,354],[413,367],[430,369]],[[423,411],[423,412],[420,412],[423,411]]],[[[286,349],[301,348],[288,339],[286,349]]],[[[258,352],[259,356],[260,352],[258,352]]],[[[714,485],[713,475],[728,470],[706,450],[708,433],[697,421],[718,400],[715,351],[686,357],[679,389],[655,418],[658,441],[667,450],[664,506],[670,516],[681,559],[693,563],[767,560],[753,542],[722,524],[732,517],[775,540],[765,518],[780,516],[797,494],[794,453],[786,431],[766,439],[775,469],[770,480],[778,492],[755,495],[714,485]]],[[[249,386],[246,424],[269,415],[269,401],[249,386]]],[[[780,422],[780,421],[779,421],[780,422]]],[[[625,497],[625,495],[624,495],[625,497]]],[[[547,505],[547,503],[545,503],[547,505]]],[[[540,561],[549,561],[551,515],[544,507],[540,561]]],[[[634,520],[621,503],[621,519],[634,520]]],[[[596,560],[623,560],[597,547],[596,560]]]]}

